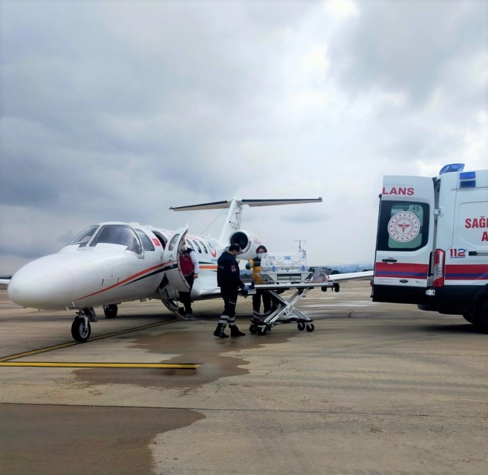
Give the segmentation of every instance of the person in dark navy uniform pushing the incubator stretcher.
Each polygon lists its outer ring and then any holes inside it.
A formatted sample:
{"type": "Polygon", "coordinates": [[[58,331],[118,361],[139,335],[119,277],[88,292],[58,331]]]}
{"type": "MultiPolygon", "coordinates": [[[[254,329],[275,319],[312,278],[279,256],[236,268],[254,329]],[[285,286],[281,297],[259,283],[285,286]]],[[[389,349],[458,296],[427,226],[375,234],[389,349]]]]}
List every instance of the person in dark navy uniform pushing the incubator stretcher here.
{"type": "Polygon", "coordinates": [[[224,299],[224,312],[222,313],[214,335],[220,338],[228,338],[225,335],[225,325],[229,325],[230,336],[244,336],[245,333],[239,331],[236,325],[236,303],[239,289],[244,292],[249,290],[247,285],[241,280],[239,263],[236,260],[241,251],[239,244],[231,244],[227,251],[222,253],[217,261],[217,285],[220,287],[222,298],[224,299]]]}

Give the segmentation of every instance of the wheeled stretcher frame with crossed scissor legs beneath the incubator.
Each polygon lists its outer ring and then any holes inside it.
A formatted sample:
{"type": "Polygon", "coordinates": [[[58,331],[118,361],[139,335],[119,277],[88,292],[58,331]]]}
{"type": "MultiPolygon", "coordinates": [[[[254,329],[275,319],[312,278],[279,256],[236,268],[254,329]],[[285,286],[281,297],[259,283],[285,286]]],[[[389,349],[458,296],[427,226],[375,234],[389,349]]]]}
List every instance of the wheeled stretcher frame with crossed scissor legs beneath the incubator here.
{"type": "Polygon", "coordinates": [[[313,319],[307,317],[303,312],[295,308],[296,303],[305,297],[312,289],[320,287],[323,292],[327,289],[339,292],[339,284],[333,280],[325,282],[280,282],[272,284],[254,284],[249,289],[249,295],[256,294],[256,290],[263,290],[271,295],[273,300],[278,304],[276,310],[271,312],[264,319],[253,317],[249,325],[249,331],[253,334],[266,335],[266,332],[271,330],[275,325],[282,323],[296,323],[298,330],[305,330],[313,332],[315,327],[313,319]],[[276,291],[295,289],[296,292],[288,298],[282,297],[281,292],[276,291]]]}

